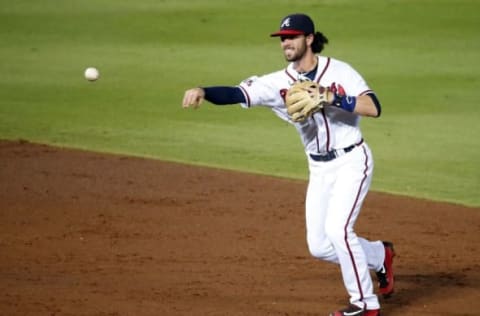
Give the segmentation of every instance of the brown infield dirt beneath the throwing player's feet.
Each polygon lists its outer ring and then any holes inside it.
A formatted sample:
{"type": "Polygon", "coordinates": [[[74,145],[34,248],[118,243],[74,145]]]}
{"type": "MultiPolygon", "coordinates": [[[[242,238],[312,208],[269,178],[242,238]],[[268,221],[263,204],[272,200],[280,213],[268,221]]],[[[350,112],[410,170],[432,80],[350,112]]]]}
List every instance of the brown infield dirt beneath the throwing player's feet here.
{"type": "MultiPolygon", "coordinates": [[[[0,315],[328,315],[305,181],[0,142],[0,315]]],[[[303,166],[302,166],[303,167],[303,166]]],[[[382,315],[480,315],[480,209],[370,192],[396,247],[382,315]]]]}

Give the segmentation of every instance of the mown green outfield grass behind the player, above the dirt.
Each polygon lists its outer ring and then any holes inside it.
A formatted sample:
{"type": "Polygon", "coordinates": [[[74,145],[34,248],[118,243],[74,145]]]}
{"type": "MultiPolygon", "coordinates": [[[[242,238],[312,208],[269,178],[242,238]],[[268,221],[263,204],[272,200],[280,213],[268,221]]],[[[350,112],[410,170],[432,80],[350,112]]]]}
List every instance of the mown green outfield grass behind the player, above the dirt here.
{"type": "Polygon", "coordinates": [[[306,179],[270,111],[180,106],[189,87],[283,68],[268,35],[292,12],[383,104],[362,120],[373,189],[480,206],[480,1],[0,0],[0,138],[306,179]]]}

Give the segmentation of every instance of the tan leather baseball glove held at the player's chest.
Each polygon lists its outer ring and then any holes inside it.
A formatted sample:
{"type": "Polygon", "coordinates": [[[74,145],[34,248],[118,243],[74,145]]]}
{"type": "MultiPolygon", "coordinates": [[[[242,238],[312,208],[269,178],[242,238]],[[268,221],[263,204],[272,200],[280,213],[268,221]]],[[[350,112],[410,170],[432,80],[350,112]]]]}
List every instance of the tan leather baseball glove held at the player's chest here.
{"type": "Polygon", "coordinates": [[[303,122],[328,104],[330,97],[333,93],[316,82],[297,81],[288,89],[285,105],[292,121],[303,122]]]}

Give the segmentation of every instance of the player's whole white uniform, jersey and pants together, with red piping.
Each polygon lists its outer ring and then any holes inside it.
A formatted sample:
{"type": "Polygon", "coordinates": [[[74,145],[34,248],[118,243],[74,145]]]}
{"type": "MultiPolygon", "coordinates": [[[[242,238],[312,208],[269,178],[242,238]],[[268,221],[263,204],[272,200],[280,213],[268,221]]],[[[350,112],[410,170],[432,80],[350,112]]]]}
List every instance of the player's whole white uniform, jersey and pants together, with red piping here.
{"type": "MultiPolygon", "coordinates": [[[[327,106],[305,122],[291,121],[284,98],[289,87],[301,78],[293,64],[281,71],[251,77],[239,85],[246,99],[242,106],[269,107],[280,118],[295,125],[310,171],[305,201],[309,251],[316,258],[340,264],[350,303],[365,309],[378,309],[380,305],[373,292],[369,269],[382,267],[385,249],[381,241],[371,242],[354,232],[373,174],[370,148],[362,142],[360,116],[327,106]],[[344,148],[349,150],[342,150],[344,148]],[[322,156],[332,150],[339,150],[342,155],[328,161],[311,157],[311,154],[322,156]]],[[[372,92],[350,65],[323,56],[318,56],[314,81],[324,87],[341,86],[349,96],[372,92]]]]}

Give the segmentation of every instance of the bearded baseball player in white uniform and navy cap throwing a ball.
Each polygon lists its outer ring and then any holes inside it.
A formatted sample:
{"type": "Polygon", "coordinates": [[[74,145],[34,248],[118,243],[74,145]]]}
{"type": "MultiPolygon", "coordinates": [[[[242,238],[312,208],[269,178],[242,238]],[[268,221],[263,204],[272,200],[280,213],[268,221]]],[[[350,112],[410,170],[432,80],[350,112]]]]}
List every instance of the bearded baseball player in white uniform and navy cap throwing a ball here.
{"type": "Polygon", "coordinates": [[[331,316],[378,316],[378,293],[394,290],[393,244],[369,241],[354,231],[372,180],[373,158],[359,128],[360,117],[379,117],[373,90],[349,64],[321,56],[328,39],[315,32],[305,14],[282,19],[280,38],[285,69],[252,76],[238,86],[197,87],[185,91],[183,107],[203,100],[217,105],[270,108],[300,134],[309,167],[305,200],[306,239],[312,256],[340,265],[348,307],[331,316]],[[305,86],[305,83],[307,86],[305,86]],[[294,91],[295,90],[295,91],[294,91]]]}

